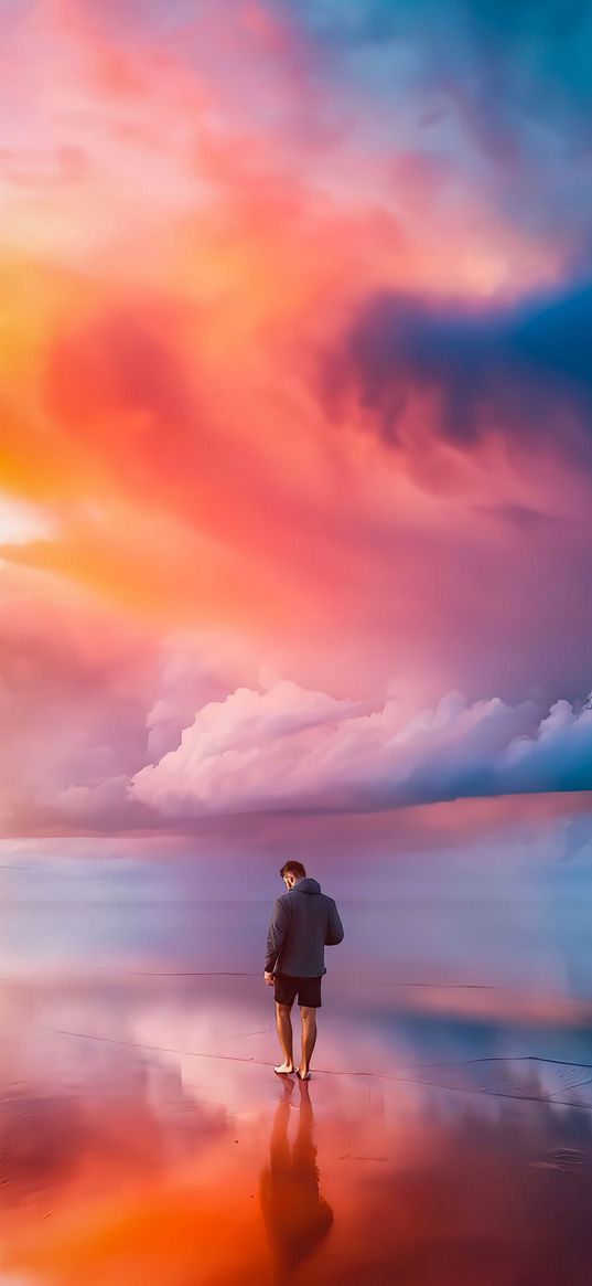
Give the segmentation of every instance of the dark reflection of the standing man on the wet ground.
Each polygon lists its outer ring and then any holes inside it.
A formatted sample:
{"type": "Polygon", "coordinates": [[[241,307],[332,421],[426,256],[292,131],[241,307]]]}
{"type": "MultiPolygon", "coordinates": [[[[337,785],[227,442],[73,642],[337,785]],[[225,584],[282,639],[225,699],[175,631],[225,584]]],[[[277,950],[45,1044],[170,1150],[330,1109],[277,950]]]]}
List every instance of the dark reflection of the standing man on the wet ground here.
{"type": "Polygon", "coordinates": [[[333,1210],[318,1192],[315,1118],[308,1085],[300,1085],[298,1132],[290,1151],[288,1127],[293,1082],[285,1082],[270,1141],[270,1164],[259,1183],[261,1209],[276,1263],[277,1281],[286,1281],[312,1255],[333,1224],[333,1210]]]}

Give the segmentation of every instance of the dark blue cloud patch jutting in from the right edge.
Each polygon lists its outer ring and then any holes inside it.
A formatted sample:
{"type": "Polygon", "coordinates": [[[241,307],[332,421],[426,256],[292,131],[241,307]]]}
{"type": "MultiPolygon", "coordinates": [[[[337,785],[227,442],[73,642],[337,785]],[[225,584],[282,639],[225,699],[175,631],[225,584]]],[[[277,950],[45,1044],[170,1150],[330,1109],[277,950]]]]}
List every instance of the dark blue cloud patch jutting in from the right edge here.
{"type": "Polygon", "coordinates": [[[353,320],[330,378],[338,395],[340,379],[354,381],[393,444],[416,388],[439,395],[442,435],[466,445],[492,423],[556,435],[569,410],[577,431],[565,445],[592,466],[591,337],[588,283],[485,314],[387,292],[353,320]]]}

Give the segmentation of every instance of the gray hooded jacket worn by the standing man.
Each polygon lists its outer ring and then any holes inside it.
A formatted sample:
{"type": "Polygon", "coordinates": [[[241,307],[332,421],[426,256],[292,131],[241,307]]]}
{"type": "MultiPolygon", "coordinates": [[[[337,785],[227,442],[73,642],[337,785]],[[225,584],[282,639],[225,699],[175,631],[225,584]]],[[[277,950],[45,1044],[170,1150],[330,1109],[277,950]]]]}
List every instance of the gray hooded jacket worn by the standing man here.
{"type": "Polygon", "coordinates": [[[267,974],[320,977],[326,974],[325,946],[343,940],[343,925],[333,898],[316,880],[298,880],[274,903],[265,968],[267,974]]]}

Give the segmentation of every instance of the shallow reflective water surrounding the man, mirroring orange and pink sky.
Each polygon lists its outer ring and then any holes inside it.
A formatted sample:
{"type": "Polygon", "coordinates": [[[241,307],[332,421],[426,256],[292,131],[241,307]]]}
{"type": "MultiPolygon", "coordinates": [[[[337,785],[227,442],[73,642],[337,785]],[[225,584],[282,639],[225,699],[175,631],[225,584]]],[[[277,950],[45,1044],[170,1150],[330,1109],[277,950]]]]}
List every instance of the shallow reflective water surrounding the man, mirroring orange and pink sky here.
{"type": "Polygon", "coordinates": [[[588,907],[343,903],[308,1087],[268,909],[4,907],[0,1281],[588,1286],[588,907]]]}

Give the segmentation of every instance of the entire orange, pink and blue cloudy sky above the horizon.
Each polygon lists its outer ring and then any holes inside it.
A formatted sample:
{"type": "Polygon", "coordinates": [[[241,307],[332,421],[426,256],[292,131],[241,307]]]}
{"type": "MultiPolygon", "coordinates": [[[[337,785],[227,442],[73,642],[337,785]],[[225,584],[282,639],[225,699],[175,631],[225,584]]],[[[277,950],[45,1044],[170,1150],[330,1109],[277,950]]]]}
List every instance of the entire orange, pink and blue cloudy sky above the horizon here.
{"type": "Polygon", "coordinates": [[[0,28],[1,835],[586,810],[589,5],[0,28]]]}

